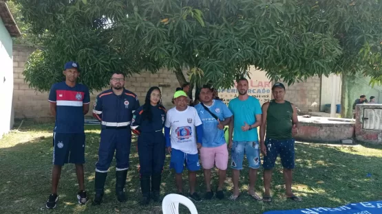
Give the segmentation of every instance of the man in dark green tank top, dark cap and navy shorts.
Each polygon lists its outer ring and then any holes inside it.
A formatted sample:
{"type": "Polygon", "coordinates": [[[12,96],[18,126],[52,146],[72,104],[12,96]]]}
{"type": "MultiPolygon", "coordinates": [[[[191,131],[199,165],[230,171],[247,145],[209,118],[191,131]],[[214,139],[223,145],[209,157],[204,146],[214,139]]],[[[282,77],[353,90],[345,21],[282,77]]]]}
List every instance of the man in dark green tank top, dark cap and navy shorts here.
{"type": "Polygon", "coordinates": [[[272,202],[270,197],[270,181],[275,167],[276,158],[280,155],[283,166],[286,198],[301,201],[292,192],[292,172],[295,168],[295,139],[293,136],[298,132],[299,119],[295,105],[284,99],[285,86],[277,82],[272,87],[275,99],[266,102],[262,106],[262,126],[260,126],[260,147],[264,167],[264,202],[272,202]],[[264,141],[264,138],[266,139],[264,141]]]}

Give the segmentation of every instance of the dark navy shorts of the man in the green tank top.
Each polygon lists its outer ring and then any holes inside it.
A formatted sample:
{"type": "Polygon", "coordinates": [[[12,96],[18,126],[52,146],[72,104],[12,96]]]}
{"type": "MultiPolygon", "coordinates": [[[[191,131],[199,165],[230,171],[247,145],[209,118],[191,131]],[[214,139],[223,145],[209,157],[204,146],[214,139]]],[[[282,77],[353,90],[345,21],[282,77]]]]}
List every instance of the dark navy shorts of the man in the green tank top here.
{"type": "Polygon", "coordinates": [[[284,169],[295,168],[295,139],[275,140],[265,139],[266,156],[264,156],[264,169],[273,169],[277,155],[280,154],[284,169]]]}

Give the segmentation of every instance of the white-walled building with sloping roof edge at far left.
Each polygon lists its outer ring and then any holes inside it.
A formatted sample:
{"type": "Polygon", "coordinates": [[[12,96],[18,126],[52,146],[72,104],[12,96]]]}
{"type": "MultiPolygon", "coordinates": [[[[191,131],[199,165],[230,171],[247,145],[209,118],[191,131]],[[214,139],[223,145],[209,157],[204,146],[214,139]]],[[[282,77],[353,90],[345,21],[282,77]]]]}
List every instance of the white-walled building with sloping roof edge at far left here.
{"type": "Polygon", "coordinates": [[[0,139],[13,126],[13,53],[12,37],[20,36],[8,5],[0,1],[0,139]]]}

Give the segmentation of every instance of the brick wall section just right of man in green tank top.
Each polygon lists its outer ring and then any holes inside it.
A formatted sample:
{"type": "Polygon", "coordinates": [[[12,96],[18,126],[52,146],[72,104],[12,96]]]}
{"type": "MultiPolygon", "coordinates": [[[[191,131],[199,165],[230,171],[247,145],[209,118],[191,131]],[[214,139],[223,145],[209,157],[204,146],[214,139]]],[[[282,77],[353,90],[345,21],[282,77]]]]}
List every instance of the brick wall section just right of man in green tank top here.
{"type": "Polygon", "coordinates": [[[286,86],[285,99],[292,102],[301,113],[318,112],[321,98],[321,78],[308,78],[305,82],[297,82],[286,86]],[[316,103],[316,104],[315,104],[316,103]]]}

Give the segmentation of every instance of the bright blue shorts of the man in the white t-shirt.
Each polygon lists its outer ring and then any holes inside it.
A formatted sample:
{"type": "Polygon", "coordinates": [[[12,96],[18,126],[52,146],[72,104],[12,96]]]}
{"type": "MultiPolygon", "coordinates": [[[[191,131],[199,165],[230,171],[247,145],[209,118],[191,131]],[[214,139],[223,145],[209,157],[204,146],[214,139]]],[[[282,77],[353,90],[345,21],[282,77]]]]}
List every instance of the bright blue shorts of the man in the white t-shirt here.
{"type": "Polygon", "coordinates": [[[176,174],[183,172],[184,164],[189,171],[198,171],[200,169],[199,155],[187,154],[180,150],[171,150],[170,169],[175,169],[176,174]]]}

